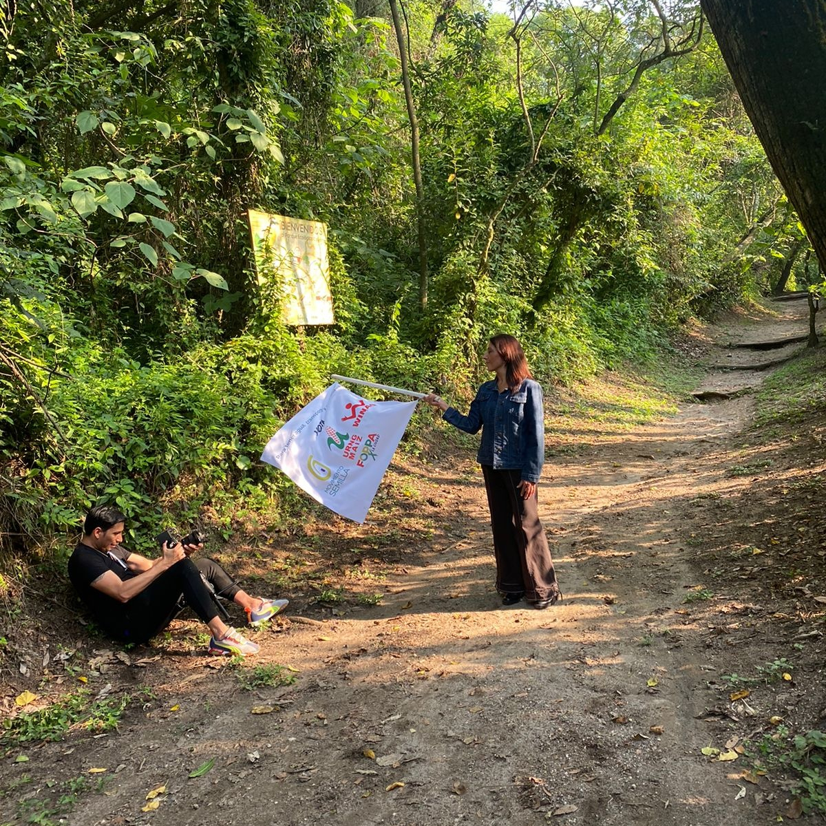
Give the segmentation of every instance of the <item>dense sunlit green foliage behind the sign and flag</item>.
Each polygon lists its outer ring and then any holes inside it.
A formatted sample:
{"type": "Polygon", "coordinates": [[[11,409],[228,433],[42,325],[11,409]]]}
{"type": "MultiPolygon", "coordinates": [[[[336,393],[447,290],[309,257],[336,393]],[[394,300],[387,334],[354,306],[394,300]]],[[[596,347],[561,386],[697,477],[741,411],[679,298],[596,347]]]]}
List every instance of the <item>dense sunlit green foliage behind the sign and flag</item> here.
{"type": "MultiPolygon", "coordinates": [[[[505,18],[408,8],[422,307],[386,20],[340,0],[54,0],[48,20],[17,4],[0,65],[2,542],[71,532],[98,501],[135,538],[170,507],[208,506],[225,533],[239,498],[295,506],[255,458],[330,373],[458,400],[507,331],[540,380],[573,382],[762,288],[800,231],[711,40],[643,73],[601,129],[640,33],[661,31],[620,7],[534,18],[525,109],[505,18]],[[282,324],[249,207],[330,226],[329,330],[282,324]]],[[[677,12],[675,37],[693,13],[677,12]]]]}

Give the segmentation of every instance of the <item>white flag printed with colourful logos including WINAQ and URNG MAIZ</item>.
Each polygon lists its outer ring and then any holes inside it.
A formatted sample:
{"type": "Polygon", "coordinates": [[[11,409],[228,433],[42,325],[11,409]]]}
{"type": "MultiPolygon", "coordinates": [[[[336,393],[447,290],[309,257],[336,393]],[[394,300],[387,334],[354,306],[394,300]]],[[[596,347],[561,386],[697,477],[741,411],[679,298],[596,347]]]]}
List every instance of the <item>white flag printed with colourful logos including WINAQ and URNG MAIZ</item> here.
{"type": "Polygon", "coordinates": [[[415,401],[369,401],[330,385],[263,449],[301,490],[354,522],[367,516],[415,401]]]}

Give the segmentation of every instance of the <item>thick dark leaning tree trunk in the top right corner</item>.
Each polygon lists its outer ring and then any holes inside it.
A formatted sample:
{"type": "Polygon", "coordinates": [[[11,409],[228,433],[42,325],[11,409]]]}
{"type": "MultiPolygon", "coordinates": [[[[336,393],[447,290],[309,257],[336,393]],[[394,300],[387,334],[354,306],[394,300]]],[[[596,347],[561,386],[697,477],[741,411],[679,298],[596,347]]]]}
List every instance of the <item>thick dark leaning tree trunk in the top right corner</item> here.
{"type": "Polygon", "coordinates": [[[826,6],[700,3],[757,137],[826,268],[826,6]]]}

